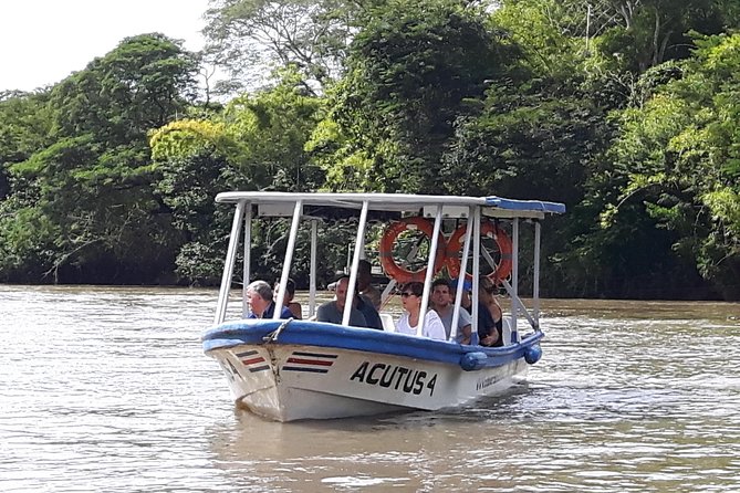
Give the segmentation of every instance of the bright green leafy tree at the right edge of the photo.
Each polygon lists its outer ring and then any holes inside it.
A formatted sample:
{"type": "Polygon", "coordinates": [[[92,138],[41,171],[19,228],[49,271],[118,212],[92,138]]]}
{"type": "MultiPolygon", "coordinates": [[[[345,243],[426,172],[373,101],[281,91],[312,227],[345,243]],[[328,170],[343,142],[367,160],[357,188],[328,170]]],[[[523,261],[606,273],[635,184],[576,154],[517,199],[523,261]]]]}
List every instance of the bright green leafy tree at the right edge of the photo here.
{"type": "Polygon", "coordinates": [[[673,237],[673,251],[727,300],[740,297],[740,35],[697,38],[681,76],[619,115],[622,135],[603,180],[604,229],[643,216],[673,237]],[[607,175],[608,174],[608,175],[607,175]],[[608,178],[607,178],[608,177],[608,178]]]}

